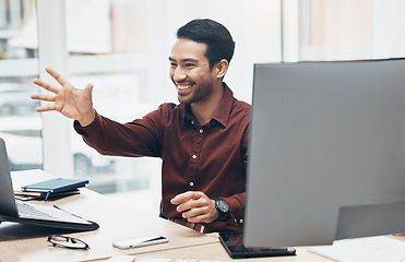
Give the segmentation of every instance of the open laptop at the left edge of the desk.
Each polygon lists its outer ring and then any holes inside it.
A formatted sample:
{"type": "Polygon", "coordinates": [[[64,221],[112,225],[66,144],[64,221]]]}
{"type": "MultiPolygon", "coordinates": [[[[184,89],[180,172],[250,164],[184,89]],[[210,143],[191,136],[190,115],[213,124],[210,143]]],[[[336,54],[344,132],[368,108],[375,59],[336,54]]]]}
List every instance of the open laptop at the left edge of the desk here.
{"type": "Polygon", "coordinates": [[[25,203],[14,198],[5,143],[0,138],[0,223],[16,222],[63,229],[95,230],[99,226],[57,206],[25,203]]]}

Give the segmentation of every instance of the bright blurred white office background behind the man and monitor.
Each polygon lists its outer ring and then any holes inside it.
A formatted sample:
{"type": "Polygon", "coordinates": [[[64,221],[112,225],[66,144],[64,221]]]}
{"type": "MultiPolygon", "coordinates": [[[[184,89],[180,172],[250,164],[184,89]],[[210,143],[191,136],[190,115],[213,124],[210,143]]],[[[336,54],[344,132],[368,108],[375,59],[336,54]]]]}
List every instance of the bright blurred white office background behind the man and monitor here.
{"type": "Polygon", "coordinates": [[[250,103],[258,62],[404,57],[404,13],[405,0],[0,0],[0,136],[11,169],[88,178],[88,188],[157,213],[159,159],[100,156],[71,120],[35,112],[32,80],[51,81],[45,67],[79,88],[93,83],[98,112],[126,122],[177,103],[167,58],[192,19],[228,27],[236,52],[225,82],[250,103]]]}

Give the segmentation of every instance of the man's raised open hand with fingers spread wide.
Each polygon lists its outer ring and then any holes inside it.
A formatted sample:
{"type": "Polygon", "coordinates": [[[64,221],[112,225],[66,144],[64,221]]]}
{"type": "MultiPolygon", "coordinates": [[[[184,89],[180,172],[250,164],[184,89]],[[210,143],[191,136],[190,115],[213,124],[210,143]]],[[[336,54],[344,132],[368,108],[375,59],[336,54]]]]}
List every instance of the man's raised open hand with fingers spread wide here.
{"type": "Polygon", "coordinates": [[[95,110],[93,108],[92,91],[93,84],[86,85],[84,90],[73,87],[61,74],[50,68],[45,69],[62,86],[58,88],[47,82],[35,79],[34,84],[53,93],[33,94],[32,99],[53,102],[53,104],[37,107],[38,112],[59,111],[63,116],[78,120],[82,127],[86,127],[94,121],[95,110]]]}

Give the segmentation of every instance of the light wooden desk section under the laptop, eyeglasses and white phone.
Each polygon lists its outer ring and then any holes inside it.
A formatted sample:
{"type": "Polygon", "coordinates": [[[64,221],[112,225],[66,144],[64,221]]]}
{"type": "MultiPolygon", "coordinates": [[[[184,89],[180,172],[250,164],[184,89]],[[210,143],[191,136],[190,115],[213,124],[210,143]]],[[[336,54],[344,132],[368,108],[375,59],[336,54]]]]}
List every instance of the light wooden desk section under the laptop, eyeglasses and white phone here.
{"type": "MultiPolygon", "coordinates": [[[[29,171],[13,172],[12,178],[14,188],[19,188],[22,184],[52,178],[52,176],[43,171],[29,171]]],[[[35,201],[35,203],[56,204],[73,214],[94,221],[100,226],[98,230],[67,233],[15,223],[2,223],[0,225],[0,261],[62,262],[94,260],[126,253],[144,253],[193,247],[217,241],[214,236],[196,233],[133,207],[129,209],[94,191],[81,189],[81,194],[57,201],[35,201]],[[80,238],[88,243],[91,249],[82,251],[53,248],[47,242],[47,236],[53,233],[80,238]],[[169,242],[131,250],[120,250],[111,245],[115,240],[155,234],[168,237],[169,242]]]]}

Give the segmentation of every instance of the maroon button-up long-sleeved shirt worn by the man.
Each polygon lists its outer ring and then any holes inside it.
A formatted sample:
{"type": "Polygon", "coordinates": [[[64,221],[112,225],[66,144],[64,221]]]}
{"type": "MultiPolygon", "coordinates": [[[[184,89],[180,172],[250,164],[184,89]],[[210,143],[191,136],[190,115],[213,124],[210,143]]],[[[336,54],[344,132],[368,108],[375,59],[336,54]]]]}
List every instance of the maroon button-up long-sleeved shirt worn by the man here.
{"type": "Polygon", "coordinates": [[[206,224],[214,230],[241,230],[246,201],[246,170],[250,105],[236,99],[224,84],[224,95],[211,121],[200,126],[189,106],[171,103],[142,119],[118,123],[96,114],[95,121],[74,128],[104,155],[153,156],[163,159],[162,212],[181,217],[170,199],[202,191],[229,204],[230,218],[206,224]]]}

